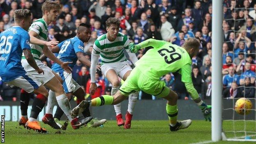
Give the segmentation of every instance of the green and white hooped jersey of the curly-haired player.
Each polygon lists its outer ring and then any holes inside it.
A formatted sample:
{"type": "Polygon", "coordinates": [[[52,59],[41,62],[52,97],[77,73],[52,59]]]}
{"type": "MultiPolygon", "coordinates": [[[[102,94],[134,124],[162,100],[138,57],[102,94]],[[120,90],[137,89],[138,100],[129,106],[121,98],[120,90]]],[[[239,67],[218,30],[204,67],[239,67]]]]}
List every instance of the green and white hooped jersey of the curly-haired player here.
{"type": "Polygon", "coordinates": [[[126,59],[123,49],[129,52],[128,45],[130,40],[122,33],[117,34],[117,38],[114,41],[107,39],[107,34],[103,34],[94,42],[93,55],[100,55],[101,64],[112,62],[123,62],[126,59]]]}

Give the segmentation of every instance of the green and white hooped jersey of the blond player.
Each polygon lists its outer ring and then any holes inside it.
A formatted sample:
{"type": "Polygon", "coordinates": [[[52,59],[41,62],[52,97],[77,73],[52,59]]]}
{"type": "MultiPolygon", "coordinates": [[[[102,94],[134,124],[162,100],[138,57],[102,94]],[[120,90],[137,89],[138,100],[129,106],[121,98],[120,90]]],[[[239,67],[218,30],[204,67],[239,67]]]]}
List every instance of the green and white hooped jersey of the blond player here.
{"type": "MultiPolygon", "coordinates": [[[[47,41],[48,25],[43,18],[39,18],[36,21],[34,21],[34,23],[32,23],[32,25],[29,28],[29,31],[30,30],[38,34],[37,36],[38,39],[47,41]]],[[[35,45],[30,43],[30,47],[31,47],[31,53],[34,59],[39,59],[42,54],[43,45],[35,45]]],[[[24,54],[22,54],[22,59],[25,59],[24,54]]]]}

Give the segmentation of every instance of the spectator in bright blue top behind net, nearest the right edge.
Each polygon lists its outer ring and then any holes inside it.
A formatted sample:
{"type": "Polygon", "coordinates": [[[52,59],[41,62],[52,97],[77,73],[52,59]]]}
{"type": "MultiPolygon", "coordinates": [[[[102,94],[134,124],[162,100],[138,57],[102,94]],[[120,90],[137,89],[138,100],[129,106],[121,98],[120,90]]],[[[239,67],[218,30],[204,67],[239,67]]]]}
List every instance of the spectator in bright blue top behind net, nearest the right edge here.
{"type": "Polygon", "coordinates": [[[242,73],[242,75],[240,76],[240,85],[244,85],[245,84],[245,78],[249,77],[251,79],[251,84],[254,84],[255,82],[255,72],[251,71],[250,68],[251,64],[249,62],[245,63],[245,72],[242,73]]]}

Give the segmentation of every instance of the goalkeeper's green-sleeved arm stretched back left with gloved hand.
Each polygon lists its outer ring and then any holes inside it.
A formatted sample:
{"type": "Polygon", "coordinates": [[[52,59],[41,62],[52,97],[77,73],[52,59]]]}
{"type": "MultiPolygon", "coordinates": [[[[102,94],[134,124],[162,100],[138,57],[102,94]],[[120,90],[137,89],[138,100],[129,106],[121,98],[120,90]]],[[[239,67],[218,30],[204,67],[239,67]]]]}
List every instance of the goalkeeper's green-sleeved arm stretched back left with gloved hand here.
{"type": "Polygon", "coordinates": [[[152,46],[153,48],[158,48],[167,43],[167,41],[160,41],[156,39],[147,39],[146,41],[142,41],[141,43],[135,45],[134,43],[129,44],[129,49],[131,53],[137,53],[138,50],[152,46]]]}

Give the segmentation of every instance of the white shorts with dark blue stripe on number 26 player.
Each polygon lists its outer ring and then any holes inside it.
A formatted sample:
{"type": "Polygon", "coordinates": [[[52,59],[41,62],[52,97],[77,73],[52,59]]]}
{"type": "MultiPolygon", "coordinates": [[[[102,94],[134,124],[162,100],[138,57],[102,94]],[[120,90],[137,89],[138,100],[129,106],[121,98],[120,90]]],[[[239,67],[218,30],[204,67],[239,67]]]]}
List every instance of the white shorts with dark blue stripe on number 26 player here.
{"type": "Polygon", "coordinates": [[[21,75],[18,78],[6,83],[9,84],[11,87],[20,87],[28,93],[33,92],[34,89],[38,89],[42,85],[39,79],[35,78],[33,75],[29,73],[25,73],[24,75],[21,75]]]}

